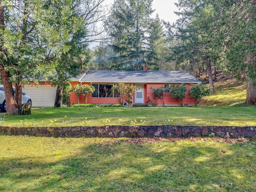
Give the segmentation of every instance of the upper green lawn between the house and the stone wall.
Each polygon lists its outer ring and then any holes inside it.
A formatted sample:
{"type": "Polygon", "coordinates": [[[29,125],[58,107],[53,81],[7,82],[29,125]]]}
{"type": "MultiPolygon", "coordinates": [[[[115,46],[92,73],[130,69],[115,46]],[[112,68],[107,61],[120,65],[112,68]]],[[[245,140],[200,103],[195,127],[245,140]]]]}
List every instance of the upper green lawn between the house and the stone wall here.
{"type": "Polygon", "coordinates": [[[255,107],[71,107],[34,109],[24,116],[4,115],[0,114],[4,126],[130,125],[134,120],[135,125],[142,125],[142,120],[145,125],[256,126],[255,107]]]}

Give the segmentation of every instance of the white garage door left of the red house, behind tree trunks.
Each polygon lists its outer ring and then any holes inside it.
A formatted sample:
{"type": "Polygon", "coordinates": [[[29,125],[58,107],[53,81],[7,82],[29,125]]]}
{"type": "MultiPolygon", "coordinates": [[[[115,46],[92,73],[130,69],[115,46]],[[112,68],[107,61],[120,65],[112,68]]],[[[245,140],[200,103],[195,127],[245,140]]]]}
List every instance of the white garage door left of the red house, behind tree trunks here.
{"type": "Polygon", "coordinates": [[[22,92],[28,94],[32,98],[32,107],[53,107],[55,102],[57,87],[50,85],[22,87],[22,92]]]}

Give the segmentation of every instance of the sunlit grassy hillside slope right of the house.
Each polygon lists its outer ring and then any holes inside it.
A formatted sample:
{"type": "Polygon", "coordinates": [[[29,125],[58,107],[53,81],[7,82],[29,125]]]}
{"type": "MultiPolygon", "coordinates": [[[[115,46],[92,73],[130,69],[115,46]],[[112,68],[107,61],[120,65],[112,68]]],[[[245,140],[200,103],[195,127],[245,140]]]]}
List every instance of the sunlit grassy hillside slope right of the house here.
{"type": "MultiPolygon", "coordinates": [[[[201,76],[202,84],[207,84],[205,75],[201,76]]],[[[200,106],[244,106],[246,100],[246,80],[239,81],[235,74],[216,73],[214,92],[202,98],[200,106]]]]}

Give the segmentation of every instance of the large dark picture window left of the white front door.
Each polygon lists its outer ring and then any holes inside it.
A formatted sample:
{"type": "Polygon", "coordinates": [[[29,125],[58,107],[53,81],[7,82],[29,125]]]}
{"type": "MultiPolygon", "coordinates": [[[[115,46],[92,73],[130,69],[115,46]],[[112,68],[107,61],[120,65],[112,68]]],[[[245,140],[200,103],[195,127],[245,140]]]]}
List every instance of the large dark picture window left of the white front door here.
{"type": "Polygon", "coordinates": [[[119,94],[113,88],[113,84],[92,84],[95,87],[95,91],[92,97],[105,97],[105,98],[118,98],[119,94]]]}

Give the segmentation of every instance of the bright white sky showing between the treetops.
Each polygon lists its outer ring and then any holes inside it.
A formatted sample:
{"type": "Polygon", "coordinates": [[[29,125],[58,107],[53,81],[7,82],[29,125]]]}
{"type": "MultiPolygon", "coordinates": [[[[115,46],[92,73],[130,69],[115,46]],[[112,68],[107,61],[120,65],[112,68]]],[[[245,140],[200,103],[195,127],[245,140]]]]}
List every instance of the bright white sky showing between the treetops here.
{"type": "MultiPolygon", "coordinates": [[[[106,5],[111,5],[114,3],[114,0],[104,0],[104,2],[106,5]]],[[[154,18],[158,13],[160,19],[166,22],[169,21],[172,24],[178,19],[178,16],[174,14],[174,11],[178,11],[174,2],[178,2],[178,0],[153,0],[152,9],[155,11],[151,17],[154,18]]],[[[95,45],[97,43],[91,43],[89,47],[92,48],[95,45]]]]}

